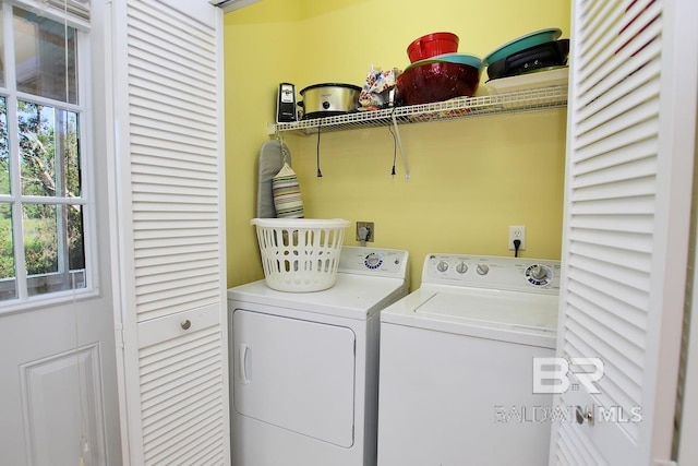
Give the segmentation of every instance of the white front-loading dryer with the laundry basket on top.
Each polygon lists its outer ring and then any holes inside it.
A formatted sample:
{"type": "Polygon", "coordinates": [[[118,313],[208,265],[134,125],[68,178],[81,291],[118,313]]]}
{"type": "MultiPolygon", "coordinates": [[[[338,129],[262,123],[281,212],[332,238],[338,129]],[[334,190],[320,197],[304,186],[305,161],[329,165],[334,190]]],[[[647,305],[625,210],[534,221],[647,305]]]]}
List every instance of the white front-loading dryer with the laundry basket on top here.
{"type": "Polygon", "coordinates": [[[228,290],[233,466],[376,464],[380,311],[407,278],[407,251],[344,247],[329,289],[228,290]]]}

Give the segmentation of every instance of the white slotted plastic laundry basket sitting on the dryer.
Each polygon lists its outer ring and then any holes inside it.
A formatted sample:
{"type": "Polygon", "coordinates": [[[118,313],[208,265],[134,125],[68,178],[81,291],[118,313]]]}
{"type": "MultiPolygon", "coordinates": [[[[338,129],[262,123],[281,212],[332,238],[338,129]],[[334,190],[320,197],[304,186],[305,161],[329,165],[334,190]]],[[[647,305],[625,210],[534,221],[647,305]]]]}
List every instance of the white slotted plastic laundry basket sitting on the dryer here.
{"type": "Polygon", "coordinates": [[[349,220],[253,218],[269,288],[320,291],[337,280],[339,253],[349,220]]]}

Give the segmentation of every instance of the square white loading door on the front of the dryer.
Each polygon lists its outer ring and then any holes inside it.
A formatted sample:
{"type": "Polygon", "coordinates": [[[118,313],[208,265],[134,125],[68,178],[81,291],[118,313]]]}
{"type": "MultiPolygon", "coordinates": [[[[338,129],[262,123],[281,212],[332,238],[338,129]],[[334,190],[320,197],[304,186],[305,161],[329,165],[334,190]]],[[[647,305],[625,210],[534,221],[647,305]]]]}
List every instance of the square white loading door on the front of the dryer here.
{"type": "Polygon", "coordinates": [[[242,416],[349,449],[356,336],[339,325],[236,309],[233,407],[242,416]]]}

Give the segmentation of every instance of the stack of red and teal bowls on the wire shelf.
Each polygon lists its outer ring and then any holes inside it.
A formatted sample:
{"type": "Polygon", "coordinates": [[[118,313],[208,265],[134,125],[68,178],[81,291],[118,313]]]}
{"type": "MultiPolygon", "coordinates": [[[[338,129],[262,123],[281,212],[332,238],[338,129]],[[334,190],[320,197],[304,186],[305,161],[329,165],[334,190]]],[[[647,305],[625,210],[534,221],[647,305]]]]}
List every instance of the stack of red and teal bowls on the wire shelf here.
{"type": "Polygon", "coordinates": [[[396,83],[398,99],[404,105],[474,95],[482,60],[458,53],[458,36],[453,33],[433,33],[409,45],[407,55],[411,63],[396,83]]]}

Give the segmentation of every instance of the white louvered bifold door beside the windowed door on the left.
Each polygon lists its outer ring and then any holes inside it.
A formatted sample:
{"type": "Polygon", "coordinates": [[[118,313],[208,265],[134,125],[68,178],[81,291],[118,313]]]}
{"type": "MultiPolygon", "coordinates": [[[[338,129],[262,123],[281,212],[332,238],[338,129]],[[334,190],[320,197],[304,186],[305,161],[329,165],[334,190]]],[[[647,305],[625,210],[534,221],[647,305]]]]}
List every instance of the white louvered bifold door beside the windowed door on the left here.
{"type": "Polygon", "coordinates": [[[221,15],[204,0],[128,0],[116,19],[129,456],[222,465],[221,15]]]}

